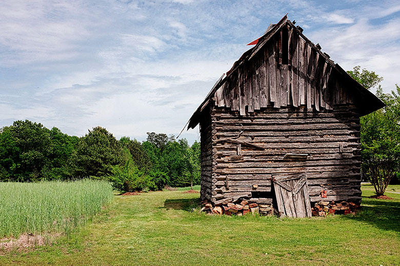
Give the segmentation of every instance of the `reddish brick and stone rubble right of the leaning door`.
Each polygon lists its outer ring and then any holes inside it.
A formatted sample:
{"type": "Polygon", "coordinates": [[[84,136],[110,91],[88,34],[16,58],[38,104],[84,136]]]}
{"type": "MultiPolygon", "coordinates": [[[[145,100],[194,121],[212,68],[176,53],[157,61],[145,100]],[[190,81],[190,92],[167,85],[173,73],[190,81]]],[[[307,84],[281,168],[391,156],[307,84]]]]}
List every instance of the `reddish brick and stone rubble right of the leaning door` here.
{"type": "Polygon", "coordinates": [[[316,202],[311,210],[312,216],[326,216],[328,214],[351,214],[360,208],[361,206],[352,202],[335,203],[334,201],[320,201],[316,202]]]}

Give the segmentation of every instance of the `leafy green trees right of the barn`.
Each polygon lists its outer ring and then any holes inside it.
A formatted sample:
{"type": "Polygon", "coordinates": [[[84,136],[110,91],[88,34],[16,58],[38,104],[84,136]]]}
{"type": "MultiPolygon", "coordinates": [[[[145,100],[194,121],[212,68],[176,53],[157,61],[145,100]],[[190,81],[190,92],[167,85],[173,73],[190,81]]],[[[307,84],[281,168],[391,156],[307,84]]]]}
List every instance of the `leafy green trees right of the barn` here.
{"type": "Polygon", "coordinates": [[[347,73],[368,90],[376,88],[375,95],[386,105],[360,118],[361,170],[376,194],[383,195],[392,180],[400,183],[400,87],[396,84],[386,94],[379,84],[383,77],[360,69],[355,66],[347,73]]]}

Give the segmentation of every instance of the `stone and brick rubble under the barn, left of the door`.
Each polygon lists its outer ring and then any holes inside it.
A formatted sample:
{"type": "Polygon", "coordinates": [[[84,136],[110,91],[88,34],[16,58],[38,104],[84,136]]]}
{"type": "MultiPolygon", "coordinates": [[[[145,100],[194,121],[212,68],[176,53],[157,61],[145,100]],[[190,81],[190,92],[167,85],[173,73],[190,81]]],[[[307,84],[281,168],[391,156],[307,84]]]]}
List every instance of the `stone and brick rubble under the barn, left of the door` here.
{"type": "Polygon", "coordinates": [[[251,214],[260,214],[260,215],[272,215],[274,210],[272,204],[263,204],[263,203],[255,203],[249,202],[247,200],[239,200],[236,203],[228,202],[219,204],[218,206],[213,206],[211,203],[205,201],[203,202],[203,207],[201,209],[204,212],[209,214],[218,214],[218,215],[237,215],[242,216],[248,213],[251,214]]]}

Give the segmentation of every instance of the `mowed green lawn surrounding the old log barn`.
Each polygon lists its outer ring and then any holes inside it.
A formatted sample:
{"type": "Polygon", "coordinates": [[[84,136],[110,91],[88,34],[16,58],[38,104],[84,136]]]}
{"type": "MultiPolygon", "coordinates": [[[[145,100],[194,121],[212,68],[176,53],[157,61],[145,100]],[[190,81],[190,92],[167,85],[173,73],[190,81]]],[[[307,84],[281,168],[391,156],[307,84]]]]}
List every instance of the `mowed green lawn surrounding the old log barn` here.
{"type": "MultiPolygon", "coordinates": [[[[6,253],[0,265],[398,265],[400,194],[367,198],[356,216],[278,219],[209,216],[198,193],[115,196],[81,230],[53,246],[6,253]]],[[[389,193],[388,193],[389,194],[389,193]]]]}

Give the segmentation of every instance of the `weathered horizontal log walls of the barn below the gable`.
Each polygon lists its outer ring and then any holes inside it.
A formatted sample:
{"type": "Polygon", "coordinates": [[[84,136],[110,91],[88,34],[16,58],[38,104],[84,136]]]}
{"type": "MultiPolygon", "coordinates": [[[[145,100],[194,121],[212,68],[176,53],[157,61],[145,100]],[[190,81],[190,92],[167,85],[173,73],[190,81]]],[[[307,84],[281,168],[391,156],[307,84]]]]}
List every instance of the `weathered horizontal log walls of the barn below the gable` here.
{"type": "Polygon", "coordinates": [[[211,107],[211,123],[201,122],[202,197],[272,198],[271,174],[306,172],[311,202],[361,201],[358,117],[352,105],[263,108],[245,115],[211,107]],[[284,159],[287,153],[308,158],[284,159]]]}

